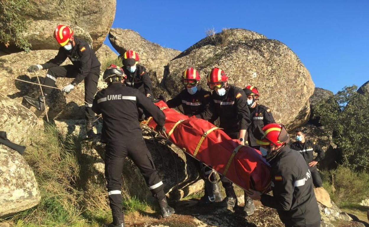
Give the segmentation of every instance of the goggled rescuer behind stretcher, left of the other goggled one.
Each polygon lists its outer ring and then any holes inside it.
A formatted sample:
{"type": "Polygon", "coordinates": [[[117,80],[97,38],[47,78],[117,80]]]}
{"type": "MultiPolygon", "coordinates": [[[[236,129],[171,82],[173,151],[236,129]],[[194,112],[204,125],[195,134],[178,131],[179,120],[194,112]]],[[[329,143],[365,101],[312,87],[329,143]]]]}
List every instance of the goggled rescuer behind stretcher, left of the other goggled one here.
{"type": "MultiPolygon", "coordinates": [[[[175,108],[182,105],[183,113],[188,117],[195,116],[204,120],[210,120],[212,113],[210,110],[211,93],[201,89],[198,86],[200,74],[194,68],[187,68],[182,74],[182,83],[184,90],[173,99],[166,103],[169,108],[175,108]]],[[[199,173],[205,182],[205,193],[197,205],[203,206],[211,202],[219,202],[223,198],[220,194],[218,183],[212,184],[208,180],[208,174],[211,173],[210,180],[215,181],[214,174],[209,167],[199,162],[199,173]]]]}

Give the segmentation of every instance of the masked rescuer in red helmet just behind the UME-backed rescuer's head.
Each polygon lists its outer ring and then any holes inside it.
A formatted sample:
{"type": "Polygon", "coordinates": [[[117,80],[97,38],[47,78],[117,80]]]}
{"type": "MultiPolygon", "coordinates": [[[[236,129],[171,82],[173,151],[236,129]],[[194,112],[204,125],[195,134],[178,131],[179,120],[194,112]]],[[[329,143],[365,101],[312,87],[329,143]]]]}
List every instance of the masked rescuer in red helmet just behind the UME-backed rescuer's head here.
{"type": "Polygon", "coordinates": [[[122,56],[123,70],[127,79],[125,85],[138,89],[146,97],[152,95],[152,83],[146,68],[140,64],[138,53],[133,50],[127,50],[122,56]]]}

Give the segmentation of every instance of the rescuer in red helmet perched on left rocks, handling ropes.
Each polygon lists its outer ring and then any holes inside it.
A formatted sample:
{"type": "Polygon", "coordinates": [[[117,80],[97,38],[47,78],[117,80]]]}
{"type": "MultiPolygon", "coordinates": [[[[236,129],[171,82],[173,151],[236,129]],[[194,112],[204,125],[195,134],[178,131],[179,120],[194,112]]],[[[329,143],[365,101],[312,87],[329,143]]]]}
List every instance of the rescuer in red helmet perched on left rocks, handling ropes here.
{"type": "MultiPolygon", "coordinates": [[[[54,31],[54,38],[61,46],[58,54],[44,64],[31,65],[27,71],[35,72],[48,69],[44,80],[44,85],[47,86],[55,86],[56,79],[59,77],[75,78],[70,84],[63,88],[63,92],[67,94],[71,92],[77,84],[85,81],[86,131],[89,137],[93,137],[94,132],[92,123],[95,114],[91,110],[91,107],[92,100],[97,91],[97,81],[100,76],[100,62],[97,60],[90,45],[85,40],[74,37],[73,30],[69,26],[58,25],[54,31]],[[72,64],[60,66],[67,57],[72,61],[72,64]]],[[[44,96],[39,96],[38,99],[29,96],[24,96],[23,99],[36,109],[44,111],[44,100],[48,100],[52,88],[42,87],[42,91],[44,96]]]]}

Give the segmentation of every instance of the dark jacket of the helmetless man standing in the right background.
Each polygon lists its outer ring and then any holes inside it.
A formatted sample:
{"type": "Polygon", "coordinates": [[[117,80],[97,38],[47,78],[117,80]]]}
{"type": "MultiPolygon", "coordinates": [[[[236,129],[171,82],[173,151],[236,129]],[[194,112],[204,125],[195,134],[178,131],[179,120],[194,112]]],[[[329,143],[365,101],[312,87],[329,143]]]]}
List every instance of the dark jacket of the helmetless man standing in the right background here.
{"type": "MultiPolygon", "coordinates": [[[[304,143],[300,143],[299,141],[293,142],[290,147],[291,149],[297,150],[304,157],[307,165],[309,165],[313,160],[319,162],[324,159],[324,150],[310,140],[305,140],[304,143]],[[313,152],[318,153],[315,159],[313,152]]],[[[314,170],[317,169],[317,166],[309,168],[310,170],[314,170]]]]}

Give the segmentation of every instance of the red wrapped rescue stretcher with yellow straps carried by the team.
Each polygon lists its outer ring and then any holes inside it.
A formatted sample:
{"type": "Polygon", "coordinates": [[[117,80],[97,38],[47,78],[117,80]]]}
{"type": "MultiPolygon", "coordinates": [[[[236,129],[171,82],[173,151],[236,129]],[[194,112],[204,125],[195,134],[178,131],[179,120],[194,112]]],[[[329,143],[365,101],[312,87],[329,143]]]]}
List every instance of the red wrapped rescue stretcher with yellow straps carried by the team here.
{"type": "MultiPolygon", "coordinates": [[[[155,105],[164,112],[168,139],[176,146],[243,189],[269,191],[269,164],[259,150],[239,145],[215,125],[178,113],[163,101],[155,105]]],[[[141,124],[156,127],[152,117],[141,124]]]]}

